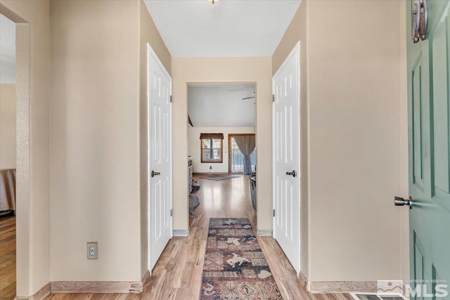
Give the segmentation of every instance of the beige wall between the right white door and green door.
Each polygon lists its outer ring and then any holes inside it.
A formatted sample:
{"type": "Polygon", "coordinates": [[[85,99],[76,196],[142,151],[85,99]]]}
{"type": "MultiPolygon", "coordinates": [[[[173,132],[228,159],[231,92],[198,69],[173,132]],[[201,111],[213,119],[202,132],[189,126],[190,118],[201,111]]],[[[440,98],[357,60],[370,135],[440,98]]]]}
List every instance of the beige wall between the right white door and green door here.
{"type": "Polygon", "coordinates": [[[306,26],[309,281],[407,273],[407,212],[392,204],[408,191],[404,15],[403,1],[303,1],[275,53],[274,70],[306,26]]]}

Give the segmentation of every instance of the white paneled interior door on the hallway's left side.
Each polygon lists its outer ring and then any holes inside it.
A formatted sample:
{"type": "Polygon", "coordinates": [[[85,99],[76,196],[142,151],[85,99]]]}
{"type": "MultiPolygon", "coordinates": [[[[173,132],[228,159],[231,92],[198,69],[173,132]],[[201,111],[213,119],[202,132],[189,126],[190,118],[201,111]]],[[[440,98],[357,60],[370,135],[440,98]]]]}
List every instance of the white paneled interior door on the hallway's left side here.
{"type": "Polygon", "coordinates": [[[172,237],[172,78],[148,45],[149,270],[172,237]]]}

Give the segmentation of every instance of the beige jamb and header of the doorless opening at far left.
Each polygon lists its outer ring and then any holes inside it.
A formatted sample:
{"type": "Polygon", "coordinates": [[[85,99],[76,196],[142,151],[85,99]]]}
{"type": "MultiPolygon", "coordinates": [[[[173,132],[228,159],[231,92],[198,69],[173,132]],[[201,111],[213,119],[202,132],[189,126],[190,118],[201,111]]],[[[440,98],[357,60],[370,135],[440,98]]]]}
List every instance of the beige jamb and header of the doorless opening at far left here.
{"type": "MultiPolygon", "coordinates": [[[[34,292],[29,284],[31,273],[30,264],[34,263],[32,256],[33,231],[31,230],[31,218],[35,212],[31,209],[31,183],[33,177],[31,171],[31,138],[30,124],[32,119],[30,97],[31,84],[34,78],[30,72],[32,67],[32,43],[30,20],[23,18],[20,13],[15,13],[6,4],[0,4],[0,13],[15,22],[15,125],[16,125],[16,182],[15,200],[20,205],[15,207],[15,272],[16,285],[15,297],[27,297],[34,292]],[[19,155],[20,152],[20,155],[19,155]]],[[[49,228],[50,230],[50,228],[49,228]]]]}

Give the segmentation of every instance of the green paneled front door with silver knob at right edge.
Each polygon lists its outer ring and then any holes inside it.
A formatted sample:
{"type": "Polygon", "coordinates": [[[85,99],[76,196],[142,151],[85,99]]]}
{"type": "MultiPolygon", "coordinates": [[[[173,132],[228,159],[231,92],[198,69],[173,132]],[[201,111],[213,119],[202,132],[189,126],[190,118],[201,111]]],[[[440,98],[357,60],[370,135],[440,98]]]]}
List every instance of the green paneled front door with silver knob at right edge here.
{"type": "Polygon", "coordinates": [[[406,5],[411,299],[450,299],[450,0],[428,0],[417,44],[406,5]]]}

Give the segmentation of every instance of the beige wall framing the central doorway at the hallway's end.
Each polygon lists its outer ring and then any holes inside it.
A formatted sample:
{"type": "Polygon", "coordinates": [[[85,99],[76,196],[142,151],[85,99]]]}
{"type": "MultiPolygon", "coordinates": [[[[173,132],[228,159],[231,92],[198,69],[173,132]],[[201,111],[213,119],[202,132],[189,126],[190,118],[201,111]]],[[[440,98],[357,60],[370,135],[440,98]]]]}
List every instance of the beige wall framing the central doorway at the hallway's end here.
{"type": "Polygon", "coordinates": [[[256,83],[257,226],[271,229],[271,58],[172,58],[172,79],[174,229],[188,229],[188,83],[256,83]]]}

